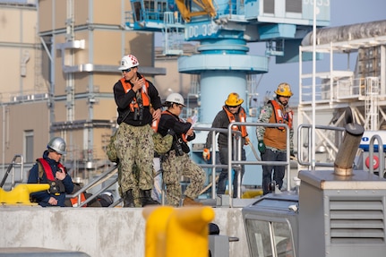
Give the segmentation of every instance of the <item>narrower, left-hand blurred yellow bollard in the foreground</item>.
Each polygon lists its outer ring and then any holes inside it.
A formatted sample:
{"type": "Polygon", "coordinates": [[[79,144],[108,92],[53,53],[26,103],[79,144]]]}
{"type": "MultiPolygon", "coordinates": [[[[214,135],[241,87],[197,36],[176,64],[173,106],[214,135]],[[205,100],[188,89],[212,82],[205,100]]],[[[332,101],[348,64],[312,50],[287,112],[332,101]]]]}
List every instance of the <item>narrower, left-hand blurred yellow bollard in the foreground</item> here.
{"type": "Polygon", "coordinates": [[[145,257],[165,257],[167,220],[173,207],[146,207],[142,215],[147,219],[145,228],[145,257]]]}

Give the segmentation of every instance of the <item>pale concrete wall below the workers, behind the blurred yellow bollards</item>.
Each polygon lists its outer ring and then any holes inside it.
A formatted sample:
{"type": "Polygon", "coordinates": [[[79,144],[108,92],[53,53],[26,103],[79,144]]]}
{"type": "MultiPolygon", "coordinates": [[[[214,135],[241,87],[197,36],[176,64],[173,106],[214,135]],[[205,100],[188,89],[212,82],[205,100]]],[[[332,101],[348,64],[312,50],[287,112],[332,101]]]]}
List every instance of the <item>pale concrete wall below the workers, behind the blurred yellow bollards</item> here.
{"type": "MultiPolygon", "coordinates": [[[[144,256],[142,208],[0,207],[0,248],[42,247],[92,257],[144,256]]],[[[220,235],[236,236],[229,256],[249,256],[239,208],[214,208],[220,235]]],[[[1,251],[1,249],[0,249],[1,251]]]]}

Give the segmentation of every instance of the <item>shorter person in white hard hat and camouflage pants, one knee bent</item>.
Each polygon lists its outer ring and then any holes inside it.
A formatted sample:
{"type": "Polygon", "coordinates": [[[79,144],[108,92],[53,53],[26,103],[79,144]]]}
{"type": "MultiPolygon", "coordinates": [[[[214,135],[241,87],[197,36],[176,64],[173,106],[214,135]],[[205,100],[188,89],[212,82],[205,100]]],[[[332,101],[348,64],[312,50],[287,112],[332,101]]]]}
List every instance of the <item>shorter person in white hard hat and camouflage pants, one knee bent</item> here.
{"type": "Polygon", "coordinates": [[[167,96],[164,106],[167,110],[162,112],[158,132],[163,136],[168,133],[173,135],[172,148],[162,158],[163,179],[167,186],[167,204],[174,207],[180,206],[182,197],[180,179],[181,176],[186,176],[190,178],[190,184],[184,191],[183,206],[202,205],[194,199],[202,191],[205,172],[189,157],[190,149],[186,143],[195,138],[193,121],[188,118],[184,122],[179,118],[184,107],[184,98],[180,94],[172,93],[167,96]]]}

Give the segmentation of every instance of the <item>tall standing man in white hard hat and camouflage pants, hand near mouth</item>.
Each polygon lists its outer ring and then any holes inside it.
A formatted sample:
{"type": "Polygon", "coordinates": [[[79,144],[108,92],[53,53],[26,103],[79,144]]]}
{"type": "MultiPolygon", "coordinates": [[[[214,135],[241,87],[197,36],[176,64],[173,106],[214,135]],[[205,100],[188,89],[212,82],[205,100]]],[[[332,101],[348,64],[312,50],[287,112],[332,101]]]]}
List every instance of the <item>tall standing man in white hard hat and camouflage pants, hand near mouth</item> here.
{"type": "Polygon", "coordinates": [[[124,56],[119,70],[123,77],[114,85],[114,98],[118,111],[116,157],[119,158],[119,186],[124,207],[134,207],[133,189],[139,188],[142,206],[158,204],[151,199],[153,187],[154,144],[150,124],[161,114],[161,100],[156,87],[138,73],[135,56],[124,56]],[[150,106],[154,112],[150,113],[150,106]],[[138,167],[134,176],[133,165],[138,167]]]}

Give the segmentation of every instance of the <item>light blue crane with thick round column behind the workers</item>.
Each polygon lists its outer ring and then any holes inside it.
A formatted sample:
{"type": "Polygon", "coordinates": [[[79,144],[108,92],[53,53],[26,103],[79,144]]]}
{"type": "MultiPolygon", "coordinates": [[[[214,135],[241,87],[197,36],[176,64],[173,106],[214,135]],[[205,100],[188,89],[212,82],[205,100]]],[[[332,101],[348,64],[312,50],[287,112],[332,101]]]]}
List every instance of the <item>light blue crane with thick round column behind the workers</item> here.
{"type": "MultiPolygon", "coordinates": [[[[328,26],[330,1],[315,2],[317,26],[328,26]]],[[[178,71],[201,77],[200,109],[205,110],[199,115],[201,123],[211,123],[228,93],[236,91],[247,99],[247,75],[268,73],[270,56],[276,56],[277,63],[298,61],[298,46],[313,26],[313,0],[131,0],[131,4],[126,26],[162,32],[165,55],[182,54],[181,37],[199,42],[197,55],[178,57],[178,71]],[[249,55],[250,42],[265,42],[266,55],[249,55]]]]}

